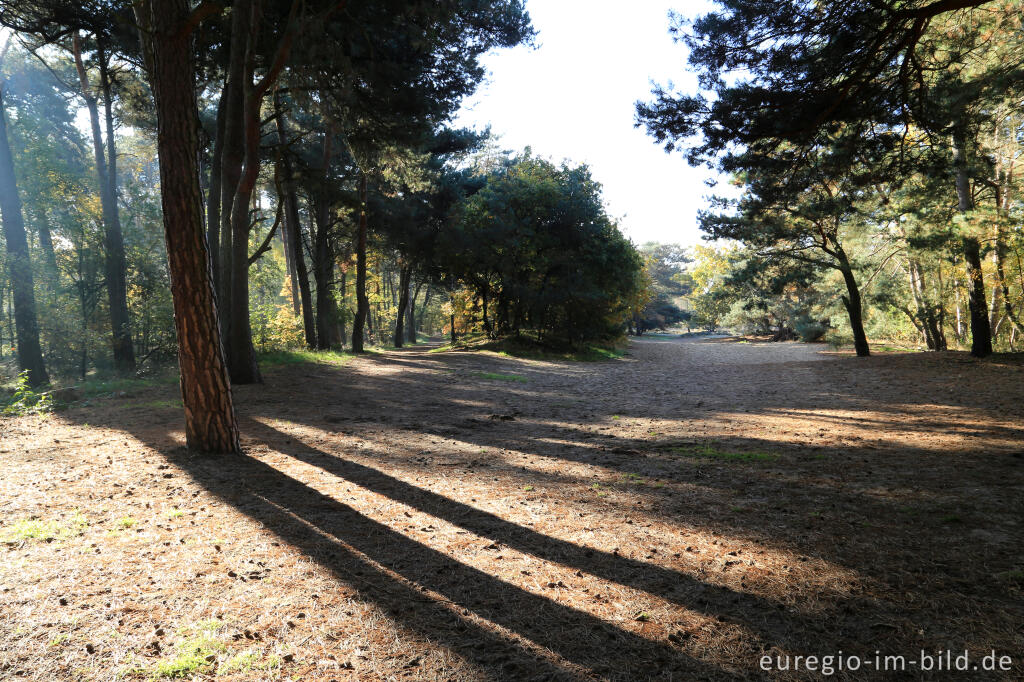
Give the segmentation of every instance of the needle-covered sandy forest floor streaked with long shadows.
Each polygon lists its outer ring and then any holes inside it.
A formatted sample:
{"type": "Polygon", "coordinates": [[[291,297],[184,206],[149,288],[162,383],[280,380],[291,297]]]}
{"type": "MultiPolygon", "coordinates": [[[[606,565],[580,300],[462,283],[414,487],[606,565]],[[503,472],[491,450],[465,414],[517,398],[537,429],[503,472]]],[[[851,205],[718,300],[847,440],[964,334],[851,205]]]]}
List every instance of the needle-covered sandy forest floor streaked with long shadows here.
{"type": "Polygon", "coordinates": [[[0,678],[1024,677],[1021,357],[427,350],[267,371],[243,458],[172,385],[0,420],[0,678]]]}

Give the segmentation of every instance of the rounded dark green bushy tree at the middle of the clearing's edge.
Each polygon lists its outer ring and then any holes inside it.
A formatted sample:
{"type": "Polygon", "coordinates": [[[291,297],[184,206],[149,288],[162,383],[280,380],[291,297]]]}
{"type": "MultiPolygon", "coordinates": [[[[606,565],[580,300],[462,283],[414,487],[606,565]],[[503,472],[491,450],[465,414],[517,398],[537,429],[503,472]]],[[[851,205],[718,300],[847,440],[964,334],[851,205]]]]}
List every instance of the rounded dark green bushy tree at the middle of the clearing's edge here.
{"type": "Polygon", "coordinates": [[[586,167],[527,153],[487,173],[458,211],[440,252],[488,335],[579,345],[622,333],[642,261],[586,167]]]}

